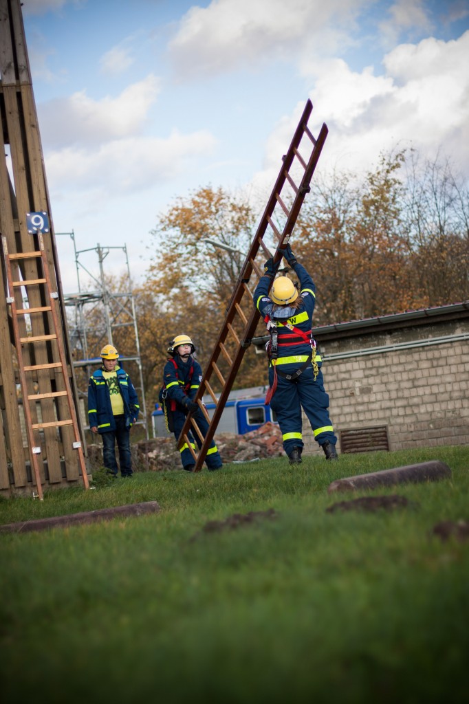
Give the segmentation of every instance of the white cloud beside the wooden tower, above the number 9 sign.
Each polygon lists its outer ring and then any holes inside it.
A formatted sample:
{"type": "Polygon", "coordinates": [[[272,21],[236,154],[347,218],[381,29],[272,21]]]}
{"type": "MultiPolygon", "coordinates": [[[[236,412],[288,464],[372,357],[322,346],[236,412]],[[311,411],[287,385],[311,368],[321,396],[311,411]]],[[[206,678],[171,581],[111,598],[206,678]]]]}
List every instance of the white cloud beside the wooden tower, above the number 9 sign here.
{"type": "Polygon", "coordinates": [[[129,137],[142,131],[161,84],[154,75],[127,86],[116,98],[95,101],[85,91],[55,99],[38,107],[46,148],[71,144],[85,146],[129,137]]]}

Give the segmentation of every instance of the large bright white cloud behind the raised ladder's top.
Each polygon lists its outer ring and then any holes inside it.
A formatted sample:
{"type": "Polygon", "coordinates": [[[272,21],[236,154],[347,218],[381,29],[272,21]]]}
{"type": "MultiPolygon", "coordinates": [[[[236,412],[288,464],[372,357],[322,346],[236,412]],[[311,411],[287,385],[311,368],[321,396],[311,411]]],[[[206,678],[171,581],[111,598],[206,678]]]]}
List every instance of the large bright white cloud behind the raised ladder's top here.
{"type": "MultiPolygon", "coordinates": [[[[439,148],[469,170],[469,32],[456,41],[425,39],[397,46],[384,57],[384,76],[365,68],[352,71],[344,61],[316,66],[311,91],[315,104],[310,127],[329,127],[320,169],[359,172],[373,168],[381,151],[414,146],[434,158],[439,148]]],[[[273,182],[304,103],[283,118],[266,146],[265,169],[273,182]]],[[[256,182],[262,182],[261,175],[256,182]]]]}

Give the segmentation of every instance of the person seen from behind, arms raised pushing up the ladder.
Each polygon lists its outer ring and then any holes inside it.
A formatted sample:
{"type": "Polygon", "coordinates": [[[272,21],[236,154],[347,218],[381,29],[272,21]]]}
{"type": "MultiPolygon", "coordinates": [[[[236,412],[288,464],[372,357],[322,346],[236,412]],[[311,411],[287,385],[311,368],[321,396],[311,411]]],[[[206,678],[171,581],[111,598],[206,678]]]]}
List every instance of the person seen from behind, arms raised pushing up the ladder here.
{"type": "Polygon", "coordinates": [[[300,293],[288,277],[275,279],[280,260],[275,265],[273,258],[265,263],[265,275],[254,291],[254,303],[271,335],[270,407],[277,413],[284,451],[290,464],[301,462],[304,446],[301,407],[326,459],[337,460],[337,438],[328,412],[329,396],[324,389],[321,359],[311,337],[315,285],[304,266],[296,261],[289,244],[283,256],[299,278],[300,293]]]}

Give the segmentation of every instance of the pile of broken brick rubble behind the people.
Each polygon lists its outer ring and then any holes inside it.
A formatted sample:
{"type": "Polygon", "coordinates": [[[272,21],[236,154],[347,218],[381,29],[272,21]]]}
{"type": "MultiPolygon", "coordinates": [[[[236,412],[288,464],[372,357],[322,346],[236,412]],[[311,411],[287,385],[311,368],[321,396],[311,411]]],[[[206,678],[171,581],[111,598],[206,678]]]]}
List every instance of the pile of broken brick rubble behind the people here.
{"type": "MultiPolygon", "coordinates": [[[[215,433],[215,442],[223,463],[249,462],[284,455],[282,433],[275,423],[267,422],[244,435],[215,433]]],[[[141,440],[132,446],[132,466],[137,472],[180,470],[180,452],[172,437],[141,440]]],[[[102,446],[88,445],[92,470],[102,467],[102,446]]]]}

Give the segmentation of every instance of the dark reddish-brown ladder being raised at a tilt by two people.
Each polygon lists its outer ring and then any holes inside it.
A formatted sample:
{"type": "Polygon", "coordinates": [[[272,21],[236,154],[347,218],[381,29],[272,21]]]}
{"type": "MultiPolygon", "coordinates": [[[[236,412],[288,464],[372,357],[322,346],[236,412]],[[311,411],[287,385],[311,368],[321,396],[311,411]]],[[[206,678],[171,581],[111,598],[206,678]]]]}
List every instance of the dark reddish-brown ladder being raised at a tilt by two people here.
{"type": "Polygon", "coordinates": [[[256,263],[256,256],[259,249],[262,249],[267,258],[273,256],[275,263],[280,261],[282,258],[282,250],[288,244],[289,237],[292,234],[296,218],[298,218],[305,196],[310,191],[309,184],[328,132],[327,125],[323,124],[317,139],[313,137],[313,134],[308,130],[308,120],[312,111],[313,104],[308,100],[298,127],[296,127],[292,143],[286,155],[282,157],[280,173],[267,206],[265,207],[261,222],[258,225],[256,235],[251,244],[251,249],[249,249],[249,253],[246,256],[241,273],[239,274],[235,291],[233,291],[231,301],[226,310],[225,321],[218,335],[218,340],[211,354],[211,358],[208,360],[208,364],[204,370],[199,391],[197,391],[197,395],[194,399],[194,401],[198,403],[201,412],[206,417],[208,432],[204,438],[194,418],[189,414],[177,441],[179,448],[187,445],[189,451],[192,453],[195,463],[194,472],[200,472],[204,465],[208,448],[213,440],[218,421],[223,413],[223,408],[225,408],[225,403],[230,394],[232,384],[235,381],[239,366],[242,363],[244,352],[251,344],[251,338],[256,332],[260,314],[254,307],[253,294],[248,287],[253,272],[257,280],[263,276],[263,268],[260,268],[258,263],[256,263]],[[301,174],[299,184],[294,180],[297,172],[301,174]],[[282,193],[282,189],[284,188],[287,190],[286,195],[282,193]],[[287,196],[290,196],[292,199],[291,206],[287,206],[287,196]],[[283,227],[277,226],[275,224],[276,222],[282,222],[283,227]],[[274,255],[270,253],[268,246],[266,246],[263,241],[266,234],[273,236],[273,240],[277,241],[277,248],[275,249],[274,255]],[[242,300],[244,297],[249,302],[249,313],[246,312],[246,306],[245,310],[242,308],[242,300]],[[227,340],[235,344],[235,353],[230,354],[228,351],[227,340]],[[223,375],[223,372],[220,370],[220,355],[222,356],[223,364],[227,367],[225,375],[223,375]],[[215,372],[222,387],[218,398],[215,396],[210,384],[213,372],[215,372]],[[206,393],[211,396],[213,403],[215,403],[215,410],[211,418],[202,403],[202,398],[206,393]],[[190,431],[195,433],[199,438],[201,442],[199,449],[197,447],[194,448],[194,444],[191,443],[189,439],[190,431]]]}

